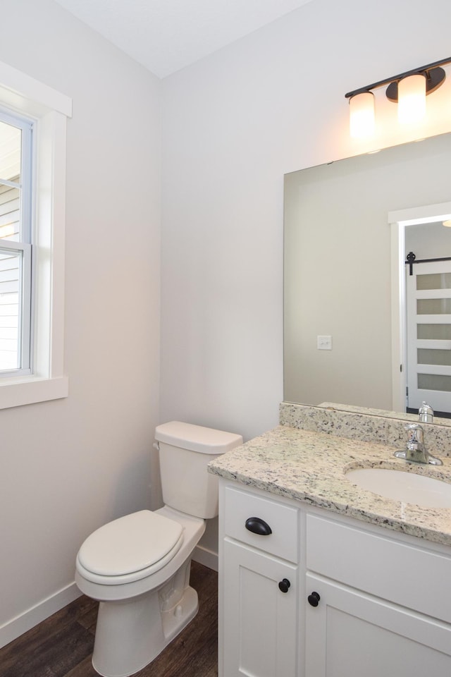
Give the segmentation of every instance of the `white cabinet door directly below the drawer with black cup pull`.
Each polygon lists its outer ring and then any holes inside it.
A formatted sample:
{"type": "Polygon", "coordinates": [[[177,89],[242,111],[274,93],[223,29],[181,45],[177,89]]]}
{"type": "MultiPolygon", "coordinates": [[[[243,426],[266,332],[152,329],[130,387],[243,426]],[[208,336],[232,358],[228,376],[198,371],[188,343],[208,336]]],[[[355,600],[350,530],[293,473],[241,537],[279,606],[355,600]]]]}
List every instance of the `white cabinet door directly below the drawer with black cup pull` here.
{"type": "Polygon", "coordinates": [[[296,677],[297,567],[229,539],[223,558],[223,677],[296,677]]]}

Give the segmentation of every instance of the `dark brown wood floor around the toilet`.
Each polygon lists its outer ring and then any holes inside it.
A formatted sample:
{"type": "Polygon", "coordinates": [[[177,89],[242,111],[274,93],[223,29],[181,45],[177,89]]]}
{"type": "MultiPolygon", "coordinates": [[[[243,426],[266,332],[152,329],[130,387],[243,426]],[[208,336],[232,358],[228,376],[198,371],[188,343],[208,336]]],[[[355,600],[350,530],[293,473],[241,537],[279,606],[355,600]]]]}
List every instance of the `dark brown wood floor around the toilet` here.
{"type": "MultiPolygon", "coordinates": [[[[218,574],[192,562],[199,613],[137,677],[217,677],[218,574]]],[[[0,649],[0,677],[97,677],[91,664],[97,603],[82,596],[0,649]]]]}

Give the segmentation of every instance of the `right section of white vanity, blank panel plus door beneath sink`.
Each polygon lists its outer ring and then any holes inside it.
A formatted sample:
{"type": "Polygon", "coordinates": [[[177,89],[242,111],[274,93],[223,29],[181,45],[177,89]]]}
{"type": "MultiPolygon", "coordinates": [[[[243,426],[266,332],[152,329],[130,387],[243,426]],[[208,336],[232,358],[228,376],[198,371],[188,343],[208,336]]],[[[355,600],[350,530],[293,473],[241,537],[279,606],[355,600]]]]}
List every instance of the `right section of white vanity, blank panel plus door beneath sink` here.
{"type": "Polygon", "coordinates": [[[450,556],[352,524],[307,514],[305,677],[451,675],[450,556]]]}

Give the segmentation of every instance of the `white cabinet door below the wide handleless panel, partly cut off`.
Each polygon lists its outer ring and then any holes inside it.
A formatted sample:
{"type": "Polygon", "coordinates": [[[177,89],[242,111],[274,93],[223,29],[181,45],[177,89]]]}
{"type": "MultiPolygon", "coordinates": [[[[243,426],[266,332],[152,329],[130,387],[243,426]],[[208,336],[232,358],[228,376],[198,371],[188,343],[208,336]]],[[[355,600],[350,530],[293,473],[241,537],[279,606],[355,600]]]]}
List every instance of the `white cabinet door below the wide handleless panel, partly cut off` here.
{"type": "Polygon", "coordinates": [[[451,626],[319,576],[306,580],[307,594],[321,597],[318,606],[306,600],[306,677],[451,675],[451,626]]]}

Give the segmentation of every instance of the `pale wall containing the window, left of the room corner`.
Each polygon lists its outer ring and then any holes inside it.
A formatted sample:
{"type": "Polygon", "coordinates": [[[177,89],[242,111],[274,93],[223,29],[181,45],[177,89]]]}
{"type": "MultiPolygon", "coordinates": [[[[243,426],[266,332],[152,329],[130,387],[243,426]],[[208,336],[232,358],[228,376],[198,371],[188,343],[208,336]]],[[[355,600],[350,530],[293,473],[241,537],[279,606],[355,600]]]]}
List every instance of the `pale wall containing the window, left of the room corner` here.
{"type": "Polygon", "coordinates": [[[3,0],[1,16],[0,60],[72,97],[73,118],[70,394],[0,413],[0,626],[73,583],[75,554],[94,527],[159,503],[149,484],[159,422],[161,193],[159,80],[51,0],[3,0]]]}

